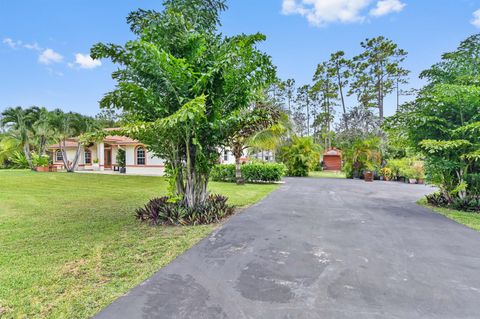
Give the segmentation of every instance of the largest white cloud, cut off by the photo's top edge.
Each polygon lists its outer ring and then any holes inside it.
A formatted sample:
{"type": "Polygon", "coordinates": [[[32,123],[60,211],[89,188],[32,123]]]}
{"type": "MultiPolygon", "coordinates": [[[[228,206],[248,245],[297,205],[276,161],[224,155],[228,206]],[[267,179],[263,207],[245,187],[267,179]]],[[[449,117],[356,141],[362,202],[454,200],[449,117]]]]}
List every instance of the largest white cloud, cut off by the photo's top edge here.
{"type": "Polygon", "coordinates": [[[361,22],[362,10],[371,0],[283,0],[283,14],[299,14],[310,24],[323,26],[332,22],[361,22]]]}

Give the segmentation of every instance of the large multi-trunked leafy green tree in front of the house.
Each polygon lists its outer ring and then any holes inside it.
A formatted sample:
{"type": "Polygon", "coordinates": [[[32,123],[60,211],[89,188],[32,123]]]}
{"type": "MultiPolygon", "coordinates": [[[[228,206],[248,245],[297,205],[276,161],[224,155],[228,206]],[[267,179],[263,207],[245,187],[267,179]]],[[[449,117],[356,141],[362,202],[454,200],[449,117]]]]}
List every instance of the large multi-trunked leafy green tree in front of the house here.
{"type": "Polygon", "coordinates": [[[127,21],[136,39],[99,43],[91,54],[120,66],[101,106],[124,112],[126,133],[166,159],[172,195],[195,209],[207,198],[211,168],[238,111],[273,83],[275,67],[257,49],[264,35],[218,32],[224,0],[166,0],[163,8],[132,12],[127,21]]]}

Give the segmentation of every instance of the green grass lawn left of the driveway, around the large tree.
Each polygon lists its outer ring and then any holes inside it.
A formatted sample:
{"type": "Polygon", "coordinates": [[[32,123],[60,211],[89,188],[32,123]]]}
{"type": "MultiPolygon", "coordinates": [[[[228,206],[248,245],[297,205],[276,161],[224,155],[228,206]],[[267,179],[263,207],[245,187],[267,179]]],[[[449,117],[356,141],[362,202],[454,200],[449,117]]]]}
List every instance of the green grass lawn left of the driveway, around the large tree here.
{"type": "MultiPolygon", "coordinates": [[[[276,187],[210,189],[246,206],[276,187]]],[[[215,228],[137,222],[166,188],[160,177],[0,170],[0,317],[89,318],[215,228]]]]}

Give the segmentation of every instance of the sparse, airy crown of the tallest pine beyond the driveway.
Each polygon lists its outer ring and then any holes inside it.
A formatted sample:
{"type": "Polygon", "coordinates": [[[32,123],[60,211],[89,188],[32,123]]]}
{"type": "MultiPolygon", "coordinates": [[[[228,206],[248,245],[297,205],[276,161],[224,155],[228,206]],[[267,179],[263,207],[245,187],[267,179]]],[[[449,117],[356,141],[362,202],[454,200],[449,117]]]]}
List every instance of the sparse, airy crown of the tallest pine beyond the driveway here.
{"type": "Polygon", "coordinates": [[[378,108],[380,121],[384,119],[385,97],[392,93],[399,81],[406,81],[409,71],[402,67],[407,52],[385,37],[366,39],[360,44],[363,52],[353,58],[355,80],[350,92],[355,92],[364,107],[378,108]]]}

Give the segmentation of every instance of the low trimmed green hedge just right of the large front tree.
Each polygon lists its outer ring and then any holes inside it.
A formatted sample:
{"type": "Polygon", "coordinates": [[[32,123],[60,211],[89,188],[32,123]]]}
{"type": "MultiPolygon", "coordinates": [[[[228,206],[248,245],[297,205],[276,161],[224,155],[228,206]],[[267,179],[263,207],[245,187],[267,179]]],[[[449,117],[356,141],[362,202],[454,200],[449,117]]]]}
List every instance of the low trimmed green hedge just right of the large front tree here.
{"type": "MultiPolygon", "coordinates": [[[[278,182],[285,176],[285,165],[277,163],[244,164],[242,176],[247,183],[278,182]]],[[[210,177],[215,182],[235,182],[235,165],[216,165],[210,177]]]]}

